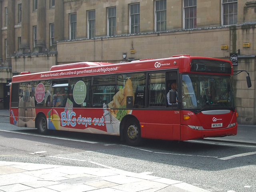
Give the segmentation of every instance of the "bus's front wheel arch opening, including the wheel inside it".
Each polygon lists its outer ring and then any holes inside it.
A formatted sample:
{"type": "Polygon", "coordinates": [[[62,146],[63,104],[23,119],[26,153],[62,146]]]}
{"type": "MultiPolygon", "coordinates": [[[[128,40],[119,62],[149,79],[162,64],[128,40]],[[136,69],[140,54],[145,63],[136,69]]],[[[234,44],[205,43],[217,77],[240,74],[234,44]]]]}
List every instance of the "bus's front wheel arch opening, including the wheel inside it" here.
{"type": "Polygon", "coordinates": [[[140,122],[133,115],[126,115],[120,123],[120,137],[131,146],[139,146],[141,143],[140,122]]]}

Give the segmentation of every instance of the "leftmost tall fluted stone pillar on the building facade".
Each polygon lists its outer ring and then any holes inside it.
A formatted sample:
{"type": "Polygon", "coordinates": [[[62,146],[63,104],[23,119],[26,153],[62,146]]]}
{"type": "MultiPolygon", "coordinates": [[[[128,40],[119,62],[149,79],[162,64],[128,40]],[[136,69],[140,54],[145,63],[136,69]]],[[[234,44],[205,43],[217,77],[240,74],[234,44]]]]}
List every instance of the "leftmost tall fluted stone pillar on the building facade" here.
{"type": "Polygon", "coordinates": [[[7,58],[6,61],[8,61],[8,66],[12,67],[12,58],[11,55],[14,54],[15,50],[15,33],[14,33],[14,13],[15,13],[15,2],[14,0],[8,0],[8,16],[7,16],[7,58]]]}

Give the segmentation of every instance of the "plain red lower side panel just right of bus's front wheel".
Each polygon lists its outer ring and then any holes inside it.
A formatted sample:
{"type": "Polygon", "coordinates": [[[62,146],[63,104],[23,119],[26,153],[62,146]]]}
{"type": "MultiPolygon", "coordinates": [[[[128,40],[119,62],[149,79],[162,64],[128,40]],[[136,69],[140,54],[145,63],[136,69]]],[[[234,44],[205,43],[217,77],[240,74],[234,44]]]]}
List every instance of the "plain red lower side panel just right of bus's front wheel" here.
{"type": "Polygon", "coordinates": [[[142,126],[143,138],[180,140],[180,111],[133,110],[132,115],[137,117],[142,126]]]}

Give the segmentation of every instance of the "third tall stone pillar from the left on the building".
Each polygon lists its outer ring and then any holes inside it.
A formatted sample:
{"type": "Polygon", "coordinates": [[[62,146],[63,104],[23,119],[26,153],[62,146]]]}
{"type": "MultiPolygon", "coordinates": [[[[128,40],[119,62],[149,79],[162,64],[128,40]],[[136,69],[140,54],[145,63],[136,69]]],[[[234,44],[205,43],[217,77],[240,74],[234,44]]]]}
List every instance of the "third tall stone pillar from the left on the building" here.
{"type": "Polygon", "coordinates": [[[44,53],[46,49],[45,30],[46,30],[46,5],[45,0],[38,0],[37,9],[37,39],[34,52],[44,53]]]}

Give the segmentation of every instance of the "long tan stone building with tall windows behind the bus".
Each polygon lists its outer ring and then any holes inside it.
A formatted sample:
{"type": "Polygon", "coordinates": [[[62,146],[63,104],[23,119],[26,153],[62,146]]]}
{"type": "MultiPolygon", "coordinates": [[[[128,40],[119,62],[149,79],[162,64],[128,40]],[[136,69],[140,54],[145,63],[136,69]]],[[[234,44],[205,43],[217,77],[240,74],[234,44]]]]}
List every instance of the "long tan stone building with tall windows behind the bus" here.
{"type": "Polygon", "coordinates": [[[22,71],[240,53],[234,69],[248,71],[252,87],[246,73],[234,75],[238,123],[256,125],[256,1],[0,0],[0,21],[0,108],[9,107],[6,84],[22,71]]]}

